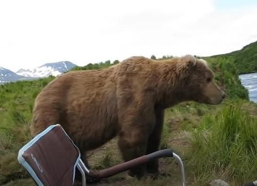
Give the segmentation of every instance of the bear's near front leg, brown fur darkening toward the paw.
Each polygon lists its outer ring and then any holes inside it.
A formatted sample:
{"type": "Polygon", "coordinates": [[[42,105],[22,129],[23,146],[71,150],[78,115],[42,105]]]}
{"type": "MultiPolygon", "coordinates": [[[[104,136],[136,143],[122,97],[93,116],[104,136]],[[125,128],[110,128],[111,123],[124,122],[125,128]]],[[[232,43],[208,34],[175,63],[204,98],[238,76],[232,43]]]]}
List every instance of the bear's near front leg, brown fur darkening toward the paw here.
{"type": "MultiPolygon", "coordinates": [[[[119,141],[118,146],[124,161],[129,161],[146,154],[149,135],[155,123],[154,105],[145,95],[135,95],[135,100],[128,103],[122,99],[119,105],[119,141]]],[[[131,169],[128,174],[141,178],[146,176],[146,164],[131,169]]]]}

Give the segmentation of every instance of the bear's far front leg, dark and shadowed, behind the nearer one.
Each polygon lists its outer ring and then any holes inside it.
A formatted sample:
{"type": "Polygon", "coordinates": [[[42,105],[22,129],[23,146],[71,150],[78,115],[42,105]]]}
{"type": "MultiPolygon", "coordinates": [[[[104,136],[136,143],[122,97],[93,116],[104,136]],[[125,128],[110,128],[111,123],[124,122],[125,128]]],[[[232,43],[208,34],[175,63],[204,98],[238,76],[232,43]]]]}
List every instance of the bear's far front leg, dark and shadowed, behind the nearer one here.
{"type": "MultiPolygon", "coordinates": [[[[152,133],[148,138],[148,145],[146,148],[146,154],[150,154],[160,149],[161,133],[163,128],[164,109],[155,109],[155,125],[152,133]]],[[[150,161],[146,164],[146,170],[148,173],[159,173],[159,161],[158,159],[150,161]]]]}

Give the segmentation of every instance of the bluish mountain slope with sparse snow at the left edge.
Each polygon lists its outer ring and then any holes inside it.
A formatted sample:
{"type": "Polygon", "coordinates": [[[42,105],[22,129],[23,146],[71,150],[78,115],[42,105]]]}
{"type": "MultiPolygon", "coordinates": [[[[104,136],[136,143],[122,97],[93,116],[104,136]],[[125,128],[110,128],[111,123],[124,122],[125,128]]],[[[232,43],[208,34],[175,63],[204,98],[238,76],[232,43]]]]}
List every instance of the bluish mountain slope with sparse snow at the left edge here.
{"type": "Polygon", "coordinates": [[[14,73],[13,71],[0,67],[0,84],[12,82],[12,81],[18,81],[18,80],[29,80],[29,79],[31,78],[16,75],[16,73],[14,73]]]}

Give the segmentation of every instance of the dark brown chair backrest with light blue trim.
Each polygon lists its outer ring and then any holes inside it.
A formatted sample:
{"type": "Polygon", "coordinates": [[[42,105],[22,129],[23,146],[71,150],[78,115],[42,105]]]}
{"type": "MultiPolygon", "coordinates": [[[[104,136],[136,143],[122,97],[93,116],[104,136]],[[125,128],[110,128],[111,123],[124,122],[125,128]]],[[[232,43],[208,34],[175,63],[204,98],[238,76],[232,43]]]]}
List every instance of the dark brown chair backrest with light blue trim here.
{"type": "Polygon", "coordinates": [[[72,185],[79,160],[79,148],[60,124],[50,125],[35,136],[18,155],[38,185],[72,185]]]}

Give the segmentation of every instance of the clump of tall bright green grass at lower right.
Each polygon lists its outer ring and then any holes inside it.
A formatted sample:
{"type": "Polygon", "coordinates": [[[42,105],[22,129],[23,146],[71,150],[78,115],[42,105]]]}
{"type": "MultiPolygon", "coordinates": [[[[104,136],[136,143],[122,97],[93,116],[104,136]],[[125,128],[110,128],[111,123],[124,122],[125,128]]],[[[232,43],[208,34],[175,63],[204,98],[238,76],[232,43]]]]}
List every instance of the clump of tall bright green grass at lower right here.
{"type": "Polygon", "coordinates": [[[215,175],[238,185],[256,179],[257,119],[241,104],[224,106],[194,130],[189,157],[198,183],[215,175]]]}

